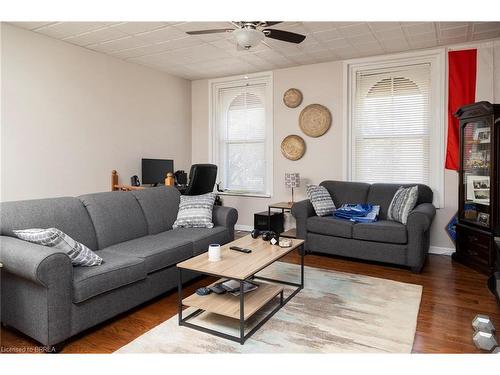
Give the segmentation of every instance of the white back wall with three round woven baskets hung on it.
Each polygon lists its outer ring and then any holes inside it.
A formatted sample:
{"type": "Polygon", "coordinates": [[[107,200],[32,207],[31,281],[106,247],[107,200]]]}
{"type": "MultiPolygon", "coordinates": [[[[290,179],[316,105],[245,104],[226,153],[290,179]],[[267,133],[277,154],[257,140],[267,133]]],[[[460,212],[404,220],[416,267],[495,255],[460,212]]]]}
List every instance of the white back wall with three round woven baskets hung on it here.
{"type": "MultiPolygon", "coordinates": [[[[492,45],[490,43],[490,45],[492,45]]],[[[487,44],[481,44],[486,46],[487,44]]],[[[477,46],[470,46],[475,48],[477,46]]],[[[491,49],[493,52],[493,49],[491,49]]],[[[500,100],[500,43],[495,47],[495,59],[491,60],[491,69],[482,74],[481,79],[493,80],[495,77],[495,93],[491,98],[481,100],[500,100]],[[497,67],[493,74],[494,67],[497,67]]],[[[486,54],[487,55],[487,54],[486,54]]],[[[492,54],[493,55],[493,54],[492,54]]],[[[274,74],[274,196],[271,199],[223,196],[224,204],[238,209],[238,225],[253,226],[253,214],[267,209],[271,202],[290,199],[290,191],[284,187],[285,172],[299,172],[302,186],[298,189],[297,200],[305,198],[306,184],[318,184],[323,180],[343,178],[346,165],[344,134],[346,123],[344,118],[344,100],[346,95],[342,62],[328,62],[314,65],[303,65],[294,68],[279,69],[274,74]],[[303,103],[295,109],[283,104],[283,93],[291,87],[300,89],[304,95],[303,103]],[[298,116],[304,106],[320,103],[332,112],[333,121],[330,130],[322,137],[311,138],[303,135],[298,126],[298,116]],[[281,155],[281,140],[288,134],[299,134],[306,140],[306,153],[296,162],[285,159],[281,155]]],[[[208,81],[193,81],[192,86],[192,159],[194,162],[208,162],[208,81]]],[[[447,103],[447,99],[445,100],[447,103]]],[[[447,127],[447,124],[445,125],[447,127]]],[[[445,140],[443,139],[443,142],[445,140]]],[[[455,171],[444,172],[444,207],[439,209],[431,229],[431,245],[439,248],[452,248],[453,243],[444,228],[457,211],[458,174],[455,171]]],[[[293,218],[287,217],[288,225],[294,226],[293,218]]],[[[435,249],[442,250],[442,249],[435,249]]]]}

